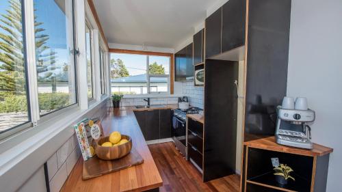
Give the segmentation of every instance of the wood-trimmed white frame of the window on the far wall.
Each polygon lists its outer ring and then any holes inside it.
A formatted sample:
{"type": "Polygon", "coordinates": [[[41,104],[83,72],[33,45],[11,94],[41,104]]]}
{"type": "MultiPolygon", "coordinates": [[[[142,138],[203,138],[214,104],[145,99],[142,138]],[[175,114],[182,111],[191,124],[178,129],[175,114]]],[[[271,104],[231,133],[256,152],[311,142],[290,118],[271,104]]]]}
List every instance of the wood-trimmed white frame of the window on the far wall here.
{"type": "MultiPolygon", "coordinates": [[[[147,94],[125,94],[125,96],[148,96],[150,94],[168,95],[174,94],[174,54],[173,53],[161,53],[153,51],[135,51],[128,49],[109,49],[109,53],[124,53],[135,55],[146,55],[146,78],[147,78],[147,94]],[[150,56],[163,56],[169,57],[169,74],[149,74],[149,57],[150,56]],[[150,92],[150,77],[168,77],[168,92],[150,92]]],[[[109,69],[110,70],[110,69],[109,69]]],[[[111,79],[111,78],[109,78],[111,79]]],[[[111,81],[109,82],[109,91],[111,92],[111,81]]]]}

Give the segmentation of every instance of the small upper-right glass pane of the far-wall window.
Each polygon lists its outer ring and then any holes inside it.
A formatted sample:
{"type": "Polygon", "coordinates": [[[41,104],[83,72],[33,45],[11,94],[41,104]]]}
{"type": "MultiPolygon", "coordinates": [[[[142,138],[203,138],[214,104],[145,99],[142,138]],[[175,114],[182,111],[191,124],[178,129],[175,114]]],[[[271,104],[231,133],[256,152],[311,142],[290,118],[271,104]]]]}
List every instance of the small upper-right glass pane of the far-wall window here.
{"type": "Polygon", "coordinates": [[[148,56],[148,72],[149,74],[170,74],[170,57],[165,56],[148,56]]]}

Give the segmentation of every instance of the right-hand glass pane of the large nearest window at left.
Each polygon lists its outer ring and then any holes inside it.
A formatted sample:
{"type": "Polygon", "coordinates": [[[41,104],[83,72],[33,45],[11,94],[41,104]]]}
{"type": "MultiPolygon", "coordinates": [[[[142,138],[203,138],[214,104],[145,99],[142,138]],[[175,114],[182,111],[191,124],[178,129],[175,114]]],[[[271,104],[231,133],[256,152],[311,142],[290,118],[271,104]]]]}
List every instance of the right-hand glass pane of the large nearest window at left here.
{"type": "Polygon", "coordinates": [[[73,1],[34,0],[40,115],[77,102],[73,1]]]}

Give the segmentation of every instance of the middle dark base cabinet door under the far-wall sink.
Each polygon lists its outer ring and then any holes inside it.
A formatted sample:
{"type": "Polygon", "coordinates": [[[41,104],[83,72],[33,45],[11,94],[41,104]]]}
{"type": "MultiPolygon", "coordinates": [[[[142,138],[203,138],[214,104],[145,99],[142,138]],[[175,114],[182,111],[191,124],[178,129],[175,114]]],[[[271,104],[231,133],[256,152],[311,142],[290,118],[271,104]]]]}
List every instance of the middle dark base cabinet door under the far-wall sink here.
{"type": "Polygon", "coordinates": [[[159,139],[159,110],[146,110],[146,141],[159,139]]]}

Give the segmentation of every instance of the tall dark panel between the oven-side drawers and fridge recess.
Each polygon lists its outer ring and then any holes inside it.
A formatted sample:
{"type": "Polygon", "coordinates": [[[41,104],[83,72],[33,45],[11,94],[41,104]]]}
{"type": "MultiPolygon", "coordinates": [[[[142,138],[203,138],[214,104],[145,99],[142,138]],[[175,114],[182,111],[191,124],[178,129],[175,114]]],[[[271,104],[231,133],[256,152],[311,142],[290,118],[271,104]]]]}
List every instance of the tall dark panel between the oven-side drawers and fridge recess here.
{"type": "Polygon", "coordinates": [[[235,173],[239,62],[207,59],[203,180],[235,173]]]}

